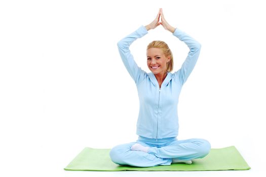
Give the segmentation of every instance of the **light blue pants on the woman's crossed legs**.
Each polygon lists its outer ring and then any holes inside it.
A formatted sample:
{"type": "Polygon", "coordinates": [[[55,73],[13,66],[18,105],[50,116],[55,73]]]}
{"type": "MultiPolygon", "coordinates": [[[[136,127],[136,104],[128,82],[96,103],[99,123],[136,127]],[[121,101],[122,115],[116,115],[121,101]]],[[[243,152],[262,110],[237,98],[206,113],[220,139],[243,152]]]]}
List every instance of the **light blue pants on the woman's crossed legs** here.
{"type": "Polygon", "coordinates": [[[204,139],[177,140],[176,137],[165,139],[149,139],[140,137],[136,142],[122,144],[110,150],[110,158],[119,165],[157,166],[171,165],[172,158],[192,160],[203,158],[209,154],[211,145],[204,139]],[[132,151],[131,147],[139,143],[150,147],[148,152],[132,151]]]}

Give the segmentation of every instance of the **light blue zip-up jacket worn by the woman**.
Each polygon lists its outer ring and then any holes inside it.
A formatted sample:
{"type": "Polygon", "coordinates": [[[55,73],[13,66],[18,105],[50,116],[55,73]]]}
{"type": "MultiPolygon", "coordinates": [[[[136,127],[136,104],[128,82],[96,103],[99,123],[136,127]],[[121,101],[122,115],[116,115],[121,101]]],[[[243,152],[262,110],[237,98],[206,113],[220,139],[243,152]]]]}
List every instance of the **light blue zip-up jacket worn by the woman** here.
{"type": "Polygon", "coordinates": [[[190,51],[178,71],[167,73],[160,89],[154,73],[146,73],[138,67],[129,50],[133,41],[147,33],[146,28],[141,25],[117,43],[122,61],[138,90],[137,135],[152,139],[176,137],[179,127],[177,114],[179,94],[199,58],[201,44],[185,32],[175,29],[173,35],[184,41],[190,51]]]}

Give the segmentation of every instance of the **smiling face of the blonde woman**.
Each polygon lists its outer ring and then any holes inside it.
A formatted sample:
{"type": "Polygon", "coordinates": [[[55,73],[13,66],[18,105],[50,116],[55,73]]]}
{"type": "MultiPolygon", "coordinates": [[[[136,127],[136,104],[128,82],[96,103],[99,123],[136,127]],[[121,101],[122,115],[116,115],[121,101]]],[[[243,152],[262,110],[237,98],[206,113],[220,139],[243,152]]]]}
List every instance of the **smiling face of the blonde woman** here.
{"type": "Polygon", "coordinates": [[[166,64],[170,61],[170,57],[166,57],[159,48],[150,48],[147,50],[147,66],[154,74],[167,72],[166,64]]]}

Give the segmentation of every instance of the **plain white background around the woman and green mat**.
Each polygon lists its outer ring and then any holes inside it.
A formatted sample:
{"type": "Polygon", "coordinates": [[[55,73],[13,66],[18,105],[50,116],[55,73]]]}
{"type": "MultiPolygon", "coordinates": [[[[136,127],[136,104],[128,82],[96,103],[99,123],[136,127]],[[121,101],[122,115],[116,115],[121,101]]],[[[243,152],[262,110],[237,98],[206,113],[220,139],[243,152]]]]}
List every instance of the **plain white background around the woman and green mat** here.
{"type": "MultiPolygon", "coordinates": [[[[262,1],[1,1],[1,176],[263,176],[265,15],[262,1]],[[63,170],[85,147],[137,139],[137,89],[117,42],[159,8],[202,45],[180,94],[178,139],[236,146],[251,169],[63,170]]],[[[133,42],[137,64],[150,72],[152,40],[168,43],[178,70],[189,50],[163,26],[133,42]]]]}

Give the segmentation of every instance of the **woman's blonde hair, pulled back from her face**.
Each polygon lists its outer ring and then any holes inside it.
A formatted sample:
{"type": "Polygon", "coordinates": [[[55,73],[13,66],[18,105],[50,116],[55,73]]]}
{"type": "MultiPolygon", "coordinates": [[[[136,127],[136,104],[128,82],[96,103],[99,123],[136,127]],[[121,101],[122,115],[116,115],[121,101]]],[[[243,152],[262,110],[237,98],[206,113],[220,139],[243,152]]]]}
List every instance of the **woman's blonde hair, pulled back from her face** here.
{"type": "Polygon", "coordinates": [[[168,58],[170,56],[170,61],[166,63],[166,70],[168,72],[171,72],[174,67],[174,60],[173,60],[173,54],[171,50],[169,49],[167,43],[161,40],[154,40],[150,42],[147,46],[147,50],[150,48],[159,48],[162,49],[163,54],[168,58]]]}

